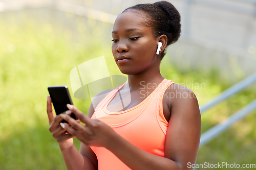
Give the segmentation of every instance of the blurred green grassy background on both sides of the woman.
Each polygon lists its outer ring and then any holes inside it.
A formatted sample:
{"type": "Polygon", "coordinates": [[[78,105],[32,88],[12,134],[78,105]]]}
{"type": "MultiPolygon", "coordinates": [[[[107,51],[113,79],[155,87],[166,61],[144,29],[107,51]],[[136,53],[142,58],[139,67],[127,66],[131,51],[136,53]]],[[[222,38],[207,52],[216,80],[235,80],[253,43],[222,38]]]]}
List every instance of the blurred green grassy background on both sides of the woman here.
{"type": "MultiPolygon", "coordinates": [[[[47,87],[70,87],[70,70],[99,56],[105,56],[110,75],[122,75],[113,60],[111,31],[110,23],[72,12],[56,14],[40,8],[0,13],[0,169],[66,169],[58,143],[49,132],[47,87]]],[[[163,77],[191,85],[200,106],[233,85],[217,67],[186,65],[184,69],[170,58],[171,52],[161,63],[163,77]],[[197,88],[196,83],[204,85],[197,88]]],[[[238,76],[236,81],[242,78],[238,76]]],[[[206,111],[202,133],[254,100],[254,87],[206,111]]],[[[73,95],[72,100],[87,114],[90,100],[73,95]]],[[[197,163],[256,163],[255,114],[254,110],[200,148],[197,163]]],[[[77,139],[75,145],[79,149],[77,139]]]]}

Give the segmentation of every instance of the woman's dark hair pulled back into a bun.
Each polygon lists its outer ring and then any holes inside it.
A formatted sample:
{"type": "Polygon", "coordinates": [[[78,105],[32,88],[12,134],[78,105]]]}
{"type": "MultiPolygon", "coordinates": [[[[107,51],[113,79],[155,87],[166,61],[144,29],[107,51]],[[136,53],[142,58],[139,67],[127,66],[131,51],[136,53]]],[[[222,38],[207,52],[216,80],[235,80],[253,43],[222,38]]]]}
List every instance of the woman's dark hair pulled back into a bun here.
{"type": "MultiPolygon", "coordinates": [[[[167,36],[167,45],[176,42],[181,34],[180,13],[173,4],[166,1],[159,1],[154,4],[138,4],[127,10],[139,10],[145,12],[150,18],[145,17],[142,24],[152,27],[155,38],[160,35],[167,36]]],[[[122,12],[122,13],[123,13],[122,12]]],[[[165,55],[165,52],[161,57],[165,55]]]]}

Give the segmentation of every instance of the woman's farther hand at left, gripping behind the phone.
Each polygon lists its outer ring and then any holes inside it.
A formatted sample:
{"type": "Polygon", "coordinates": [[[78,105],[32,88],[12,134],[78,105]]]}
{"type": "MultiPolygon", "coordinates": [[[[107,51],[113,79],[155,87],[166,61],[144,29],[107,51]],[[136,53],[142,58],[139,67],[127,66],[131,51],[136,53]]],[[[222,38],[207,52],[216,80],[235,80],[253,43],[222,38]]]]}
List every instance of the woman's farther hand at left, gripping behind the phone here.
{"type": "MultiPolygon", "coordinates": [[[[64,112],[65,113],[65,112],[64,112]]],[[[52,136],[59,143],[59,148],[61,151],[70,148],[73,145],[73,137],[69,133],[65,133],[66,130],[61,128],[59,123],[63,120],[59,115],[55,116],[52,109],[52,99],[47,96],[47,114],[49,118],[50,132],[52,136]]]]}

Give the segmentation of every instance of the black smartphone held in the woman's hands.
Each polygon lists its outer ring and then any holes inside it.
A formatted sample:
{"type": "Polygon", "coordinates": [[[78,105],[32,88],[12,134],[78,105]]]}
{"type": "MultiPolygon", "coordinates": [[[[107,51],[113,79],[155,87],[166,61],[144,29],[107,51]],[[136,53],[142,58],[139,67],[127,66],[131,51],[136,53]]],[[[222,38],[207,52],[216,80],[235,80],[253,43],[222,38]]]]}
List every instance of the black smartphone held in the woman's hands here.
{"type": "MultiPolygon", "coordinates": [[[[56,115],[69,110],[67,108],[67,104],[73,105],[68,86],[49,86],[48,91],[52,99],[52,104],[56,112],[56,115]]],[[[77,119],[74,113],[71,113],[71,117],[77,119]]],[[[62,120],[61,122],[67,123],[66,120],[62,120]]]]}

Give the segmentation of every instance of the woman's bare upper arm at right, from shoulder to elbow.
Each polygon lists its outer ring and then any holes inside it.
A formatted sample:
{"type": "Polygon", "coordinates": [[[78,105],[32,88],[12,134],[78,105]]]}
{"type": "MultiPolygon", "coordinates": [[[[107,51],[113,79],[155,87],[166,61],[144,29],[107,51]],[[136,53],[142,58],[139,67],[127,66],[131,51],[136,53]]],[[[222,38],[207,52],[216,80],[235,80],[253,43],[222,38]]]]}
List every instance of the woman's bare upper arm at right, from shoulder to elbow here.
{"type": "Polygon", "coordinates": [[[165,157],[174,160],[181,169],[189,169],[188,162],[196,162],[199,149],[201,114],[194,92],[184,86],[173,85],[169,91],[176,96],[171,105],[165,157]]]}

